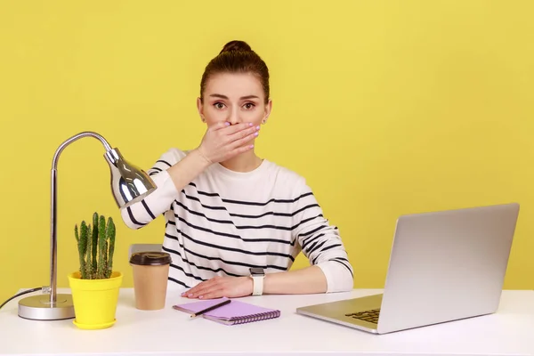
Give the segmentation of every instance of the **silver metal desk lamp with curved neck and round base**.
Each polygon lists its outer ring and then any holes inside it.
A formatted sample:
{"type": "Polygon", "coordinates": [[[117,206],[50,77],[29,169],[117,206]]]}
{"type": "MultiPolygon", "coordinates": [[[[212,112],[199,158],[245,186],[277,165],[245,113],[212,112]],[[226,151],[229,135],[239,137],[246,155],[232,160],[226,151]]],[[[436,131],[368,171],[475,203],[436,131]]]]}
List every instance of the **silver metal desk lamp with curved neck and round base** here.
{"type": "MultiPolygon", "coordinates": [[[[100,135],[85,131],[70,137],[61,143],[52,161],[51,187],[51,229],[50,229],[50,295],[33,295],[21,299],[19,302],[19,316],[29,320],[64,320],[75,317],[72,295],[57,294],[57,171],[58,159],[61,151],[70,143],[82,137],[93,137],[100,140],[106,149],[104,158],[109,165],[111,174],[111,191],[117,206],[125,207],[142,200],[156,189],[156,185],[141,168],[132,165],[117,149],[112,149],[109,143],[100,135]]],[[[46,287],[44,287],[46,288],[46,287]]]]}

